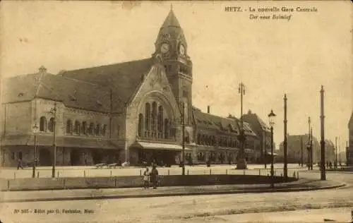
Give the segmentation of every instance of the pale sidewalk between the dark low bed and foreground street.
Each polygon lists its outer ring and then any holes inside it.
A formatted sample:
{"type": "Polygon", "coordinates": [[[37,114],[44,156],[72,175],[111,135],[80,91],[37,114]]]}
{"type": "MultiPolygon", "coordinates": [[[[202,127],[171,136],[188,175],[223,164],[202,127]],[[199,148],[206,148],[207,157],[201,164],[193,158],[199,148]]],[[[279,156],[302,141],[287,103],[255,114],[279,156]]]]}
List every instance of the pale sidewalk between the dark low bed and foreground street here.
{"type": "Polygon", "coordinates": [[[8,191],[1,193],[0,203],[52,201],[52,200],[92,200],[119,198],[150,198],[181,195],[211,195],[230,193],[273,193],[292,191],[311,191],[345,186],[336,181],[299,179],[291,183],[278,183],[275,188],[268,184],[215,185],[215,186],[171,186],[157,189],[112,188],[77,189],[58,191],[8,191]]]}

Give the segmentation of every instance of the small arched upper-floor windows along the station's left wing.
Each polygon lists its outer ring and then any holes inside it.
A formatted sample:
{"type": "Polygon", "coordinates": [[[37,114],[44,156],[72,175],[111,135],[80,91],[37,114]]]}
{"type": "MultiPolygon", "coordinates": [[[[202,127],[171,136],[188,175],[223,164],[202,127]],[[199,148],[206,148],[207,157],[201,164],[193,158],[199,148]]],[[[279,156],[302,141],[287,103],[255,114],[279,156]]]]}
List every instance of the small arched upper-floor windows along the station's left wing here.
{"type": "MultiPolygon", "coordinates": [[[[54,131],[54,117],[47,121],[45,116],[40,117],[40,131],[42,132],[53,132],[54,131]]],[[[66,134],[76,134],[76,135],[96,135],[105,136],[107,134],[107,125],[101,125],[100,123],[88,123],[87,121],[71,121],[71,119],[66,120],[66,134]]]]}

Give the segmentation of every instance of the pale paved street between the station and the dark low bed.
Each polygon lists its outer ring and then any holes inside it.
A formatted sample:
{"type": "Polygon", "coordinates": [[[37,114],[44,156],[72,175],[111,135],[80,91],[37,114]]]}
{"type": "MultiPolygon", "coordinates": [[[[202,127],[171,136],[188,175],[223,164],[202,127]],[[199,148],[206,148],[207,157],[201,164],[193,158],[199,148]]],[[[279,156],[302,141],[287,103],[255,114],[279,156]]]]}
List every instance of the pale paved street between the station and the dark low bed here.
{"type": "MultiPolygon", "coordinates": [[[[270,174],[270,165],[268,164],[267,169],[263,169],[261,164],[249,164],[249,169],[245,171],[245,174],[259,174],[258,169],[261,175],[270,174]]],[[[289,174],[291,174],[296,169],[301,169],[298,164],[289,164],[289,174]]],[[[282,169],[283,164],[275,164],[275,169],[282,169]]],[[[304,168],[305,169],[305,168],[304,168]]],[[[95,167],[57,167],[56,176],[59,177],[94,177],[94,176],[138,176],[141,171],[143,173],[144,168],[134,168],[128,167],[121,169],[117,167],[116,169],[108,169],[104,167],[103,169],[97,169],[95,167]]],[[[161,175],[180,175],[180,167],[160,167],[158,171],[161,175]]],[[[39,167],[37,168],[40,177],[52,177],[51,167],[39,167]]],[[[232,165],[218,165],[218,166],[186,166],[186,174],[244,174],[244,171],[235,169],[235,166],[232,165]],[[211,170],[211,173],[210,173],[211,170]]],[[[7,168],[1,169],[0,179],[14,179],[14,178],[30,178],[32,177],[32,169],[27,167],[25,169],[16,168],[7,168]]],[[[37,177],[37,173],[36,173],[37,177]]]]}

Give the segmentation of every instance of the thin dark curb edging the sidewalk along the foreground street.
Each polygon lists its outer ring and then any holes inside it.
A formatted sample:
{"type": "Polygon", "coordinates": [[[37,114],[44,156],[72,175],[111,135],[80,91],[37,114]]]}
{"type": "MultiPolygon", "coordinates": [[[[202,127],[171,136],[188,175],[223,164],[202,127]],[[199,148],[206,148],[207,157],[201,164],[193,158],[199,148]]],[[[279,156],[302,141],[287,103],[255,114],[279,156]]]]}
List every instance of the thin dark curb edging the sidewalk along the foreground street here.
{"type": "Polygon", "coordinates": [[[131,194],[131,195],[97,195],[97,196],[82,196],[72,198],[32,198],[22,200],[0,200],[0,203],[24,203],[24,202],[38,202],[38,201],[64,201],[64,200],[103,200],[103,199],[126,199],[126,198],[160,198],[160,197],[174,197],[174,196],[188,196],[188,195],[225,195],[225,194],[239,194],[239,193],[283,193],[283,192],[298,192],[298,191],[319,191],[327,189],[335,189],[346,186],[346,184],[339,184],[335,186],[323,186],[321,188],[275,188],[265,190],[249,190],[249,191],[210,191],[210,192],[191,192],[191,193],[156,193],[156,194],[131,194]]]}

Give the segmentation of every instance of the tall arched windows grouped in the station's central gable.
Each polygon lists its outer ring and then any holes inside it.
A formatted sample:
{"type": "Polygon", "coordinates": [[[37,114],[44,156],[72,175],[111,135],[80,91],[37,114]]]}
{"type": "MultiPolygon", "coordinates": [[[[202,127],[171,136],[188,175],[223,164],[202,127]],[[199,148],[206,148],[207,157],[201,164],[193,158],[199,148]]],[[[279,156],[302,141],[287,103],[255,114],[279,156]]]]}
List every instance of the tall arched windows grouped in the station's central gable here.
{"type": "Polygon", "coordinates": [[[145,114],[138,114],[138,136],[143,138],[171,138],[170,119],[164,117],[164,109],[157,102],[145,104],[145,114]]]}

